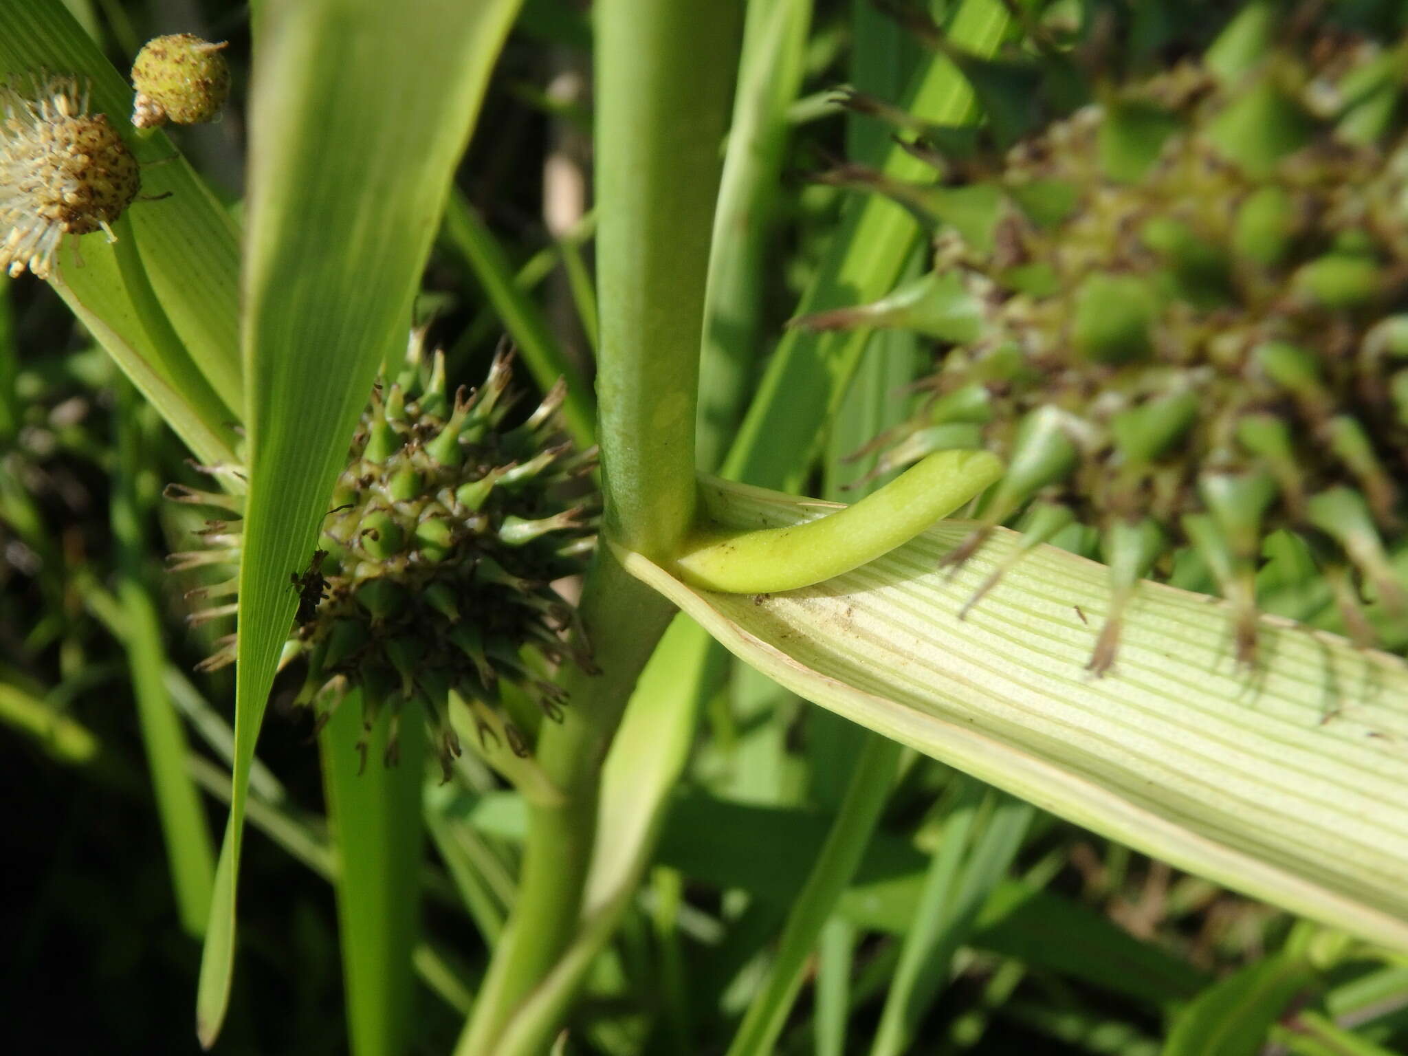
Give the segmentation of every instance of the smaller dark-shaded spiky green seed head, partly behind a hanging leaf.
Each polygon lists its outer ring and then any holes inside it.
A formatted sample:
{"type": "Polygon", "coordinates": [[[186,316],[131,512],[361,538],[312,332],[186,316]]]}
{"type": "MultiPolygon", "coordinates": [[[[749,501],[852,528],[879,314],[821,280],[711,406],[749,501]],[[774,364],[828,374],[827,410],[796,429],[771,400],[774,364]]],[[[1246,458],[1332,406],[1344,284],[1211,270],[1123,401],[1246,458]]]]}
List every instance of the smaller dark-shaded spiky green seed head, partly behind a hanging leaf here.
{"type": "Polygon", "coordinates": [[[460,750],[451,691],[486,750],[525,753],[567,703],[542,672],[591,663],[551,584],[590,558],[593,517],[572,494],[596,455],[563,439],[560,386],[513,424],[510,379],[498,355],[480,387],[451,397],[444,358],[422,362],[413,342],[373,390],[317,552],[289,573],[291,649],[307,662],[296,703],[321,724],[352,689],[373,708],[417,698],[441,719],[446,773],[460,750]]]}

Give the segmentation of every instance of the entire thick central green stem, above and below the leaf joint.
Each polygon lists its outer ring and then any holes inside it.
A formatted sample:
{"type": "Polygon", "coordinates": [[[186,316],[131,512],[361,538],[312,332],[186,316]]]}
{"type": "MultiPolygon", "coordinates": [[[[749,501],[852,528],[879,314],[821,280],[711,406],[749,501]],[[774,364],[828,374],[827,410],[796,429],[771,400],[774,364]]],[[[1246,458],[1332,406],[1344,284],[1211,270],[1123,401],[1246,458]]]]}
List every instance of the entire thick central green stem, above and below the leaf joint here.
{"type": "MultiPolygon", "coordinates": [[[[736,66],[738,6],[597,6],[597,373],[603,535],[665,558],[694,518],[694,401],[718,144],[736,66]]],[[[580,614],[598,669],[565,669],[570,707],[538,763],[562,791],[531,805],[514,911],[456,1049],[486,1056],[579,928],[601,762],[673,607],[600,546],[580,614]]]]}

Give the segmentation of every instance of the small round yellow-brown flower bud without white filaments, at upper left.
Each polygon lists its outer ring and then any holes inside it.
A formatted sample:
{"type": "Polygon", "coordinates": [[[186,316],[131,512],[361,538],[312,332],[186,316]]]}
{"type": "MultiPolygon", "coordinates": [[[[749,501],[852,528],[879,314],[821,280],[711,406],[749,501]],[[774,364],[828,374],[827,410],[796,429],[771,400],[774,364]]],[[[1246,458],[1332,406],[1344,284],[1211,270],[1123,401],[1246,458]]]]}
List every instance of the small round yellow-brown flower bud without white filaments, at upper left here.
{"type": "Polygon", "coordinates": [[[230,65],[221,44],[189,32],[148,41],[132,63],[132,124],[155,128],[168,121],[213,121],[230,96],[230,65]]]}

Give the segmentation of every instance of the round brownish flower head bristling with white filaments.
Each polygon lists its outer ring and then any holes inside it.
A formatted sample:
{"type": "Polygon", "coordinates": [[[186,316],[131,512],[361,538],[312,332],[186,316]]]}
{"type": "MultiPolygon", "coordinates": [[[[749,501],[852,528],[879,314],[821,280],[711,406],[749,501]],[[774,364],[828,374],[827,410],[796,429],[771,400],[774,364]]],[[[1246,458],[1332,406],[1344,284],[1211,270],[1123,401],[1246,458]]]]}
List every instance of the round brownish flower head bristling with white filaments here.
{"type": "Polygon", "coordinates": [[[76,77],[0,87],[0,268],[46,279],[65,235],[104,231],[137,197],[137,159],[76,77]]]}

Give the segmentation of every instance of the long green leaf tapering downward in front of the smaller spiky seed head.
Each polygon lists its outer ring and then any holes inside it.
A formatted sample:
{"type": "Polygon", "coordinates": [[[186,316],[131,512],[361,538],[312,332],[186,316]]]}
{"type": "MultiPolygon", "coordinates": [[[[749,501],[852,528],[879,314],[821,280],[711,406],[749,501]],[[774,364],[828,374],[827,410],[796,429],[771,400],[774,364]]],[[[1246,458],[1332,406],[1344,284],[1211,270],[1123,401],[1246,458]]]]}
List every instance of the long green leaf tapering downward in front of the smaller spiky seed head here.
{"type": "Polygon", "coordinates": [[[377,366],[404,346],[517,7],[270,0],[256,11],[242,331],[251,489],[234,788],[197,994],[206,1045],[230,1000],[248,773],[297,601],[289,574],[308,562],[377,366]]]}

